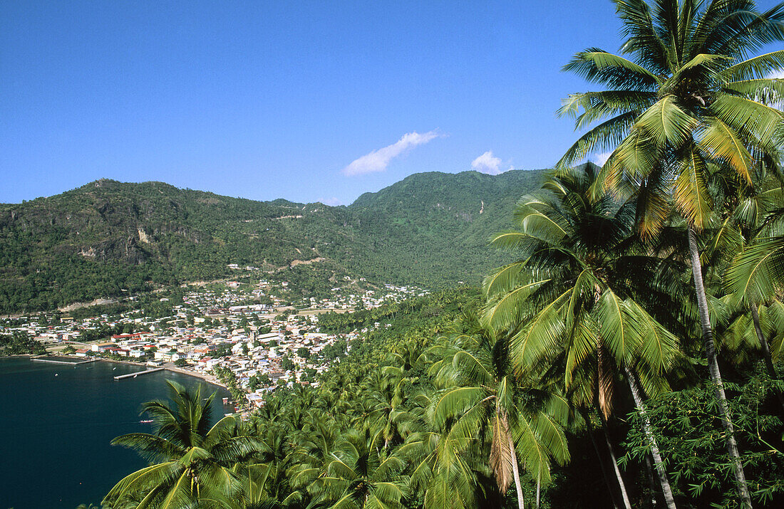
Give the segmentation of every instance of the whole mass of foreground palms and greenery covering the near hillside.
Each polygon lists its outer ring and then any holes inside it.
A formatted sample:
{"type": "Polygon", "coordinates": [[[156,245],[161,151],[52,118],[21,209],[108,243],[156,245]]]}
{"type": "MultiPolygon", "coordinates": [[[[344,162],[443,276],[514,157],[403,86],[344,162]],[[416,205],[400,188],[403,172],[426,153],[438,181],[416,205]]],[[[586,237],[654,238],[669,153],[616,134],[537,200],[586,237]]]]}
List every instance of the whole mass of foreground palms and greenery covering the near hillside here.
{"type": "Polygon", "coordinates": [[[753,55],[784,4],[615,4],[623,56],[566,67],[607,87],[564,101],[588,130],[492,238],[514,261],[323,316],[362,332],[249,421],[172,388],[104,503],[781,507],[784,50],[753,55]]]}

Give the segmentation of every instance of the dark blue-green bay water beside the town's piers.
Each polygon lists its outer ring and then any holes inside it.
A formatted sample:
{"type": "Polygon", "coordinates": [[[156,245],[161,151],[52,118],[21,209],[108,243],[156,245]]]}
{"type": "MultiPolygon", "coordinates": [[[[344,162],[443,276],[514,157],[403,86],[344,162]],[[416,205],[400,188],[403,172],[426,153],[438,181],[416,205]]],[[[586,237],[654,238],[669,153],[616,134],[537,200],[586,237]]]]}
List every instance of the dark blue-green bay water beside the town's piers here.
{"type": "MultiPolygon", "coordinates": [[[[166,380],[218,390],[215,417],[228,392],[198,378],[159,371],[114,381],[138,366],[89,363],[67,366],[0,359],[0,509],[74,509],[100,504],[114,483],[145,465],[131,450],[110,446],[140,423],[141,404],[165,399],[166,380]]],[[[225,411],[230,411],[227,409],[225,411]]]]}

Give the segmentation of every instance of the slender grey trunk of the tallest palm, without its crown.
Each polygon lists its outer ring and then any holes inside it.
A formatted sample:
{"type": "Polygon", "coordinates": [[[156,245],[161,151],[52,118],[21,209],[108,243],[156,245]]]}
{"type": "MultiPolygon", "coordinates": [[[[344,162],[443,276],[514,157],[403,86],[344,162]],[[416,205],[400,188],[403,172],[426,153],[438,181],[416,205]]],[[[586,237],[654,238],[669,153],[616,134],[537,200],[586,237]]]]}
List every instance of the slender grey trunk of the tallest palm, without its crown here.
{"type": "Polygon", "coordinates": [[[716,345],[713,343],[713,329],[710,327],[710,316],[708,315],[708,299],[705,294],[705,284],[702,283],[702,262],[699,261],[699,249],[697,248],[697,235],[694,229],[689,226],[688,249],[691,255],[691,274],[694,276],[694,287],[697,293],[697,306],[699,308],[699,321],[702,326],[702,344],[705,347],[705,355],[708,359],[708,371],[713,384],[716,386],[716,399],[719,402],[721,425],[727,435],[725,446],[729,453],[735,470],[735,484],[738,486],[744,507],[752,507],[751,497],[749,496],[749,486],[746,485],[746,474],[743,472],[743,464],[738,452],[738,443],[735,442],[735,430],[732,428],[730,412],[727,407],[727,396],[724,394],[724,384],[721,381],[721,372],[716,357],[716,345]]]}

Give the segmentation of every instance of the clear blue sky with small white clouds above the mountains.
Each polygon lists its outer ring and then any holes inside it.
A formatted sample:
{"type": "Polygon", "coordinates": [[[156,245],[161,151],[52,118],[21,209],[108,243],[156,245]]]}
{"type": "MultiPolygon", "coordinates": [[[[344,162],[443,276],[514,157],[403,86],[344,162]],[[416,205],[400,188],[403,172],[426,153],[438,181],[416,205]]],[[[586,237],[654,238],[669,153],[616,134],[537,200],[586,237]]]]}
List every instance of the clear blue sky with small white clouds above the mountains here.
{"type": "MultiPolygon", "coordinates": [[[[772,2],[770,2],[772,4],[772,2]]],[[[766,6],[760,2],[760,7],[766,6]]],[[[0,202],[102,177],[349,204],[546,168],[611,2],[0,2],[0,202]]]]}

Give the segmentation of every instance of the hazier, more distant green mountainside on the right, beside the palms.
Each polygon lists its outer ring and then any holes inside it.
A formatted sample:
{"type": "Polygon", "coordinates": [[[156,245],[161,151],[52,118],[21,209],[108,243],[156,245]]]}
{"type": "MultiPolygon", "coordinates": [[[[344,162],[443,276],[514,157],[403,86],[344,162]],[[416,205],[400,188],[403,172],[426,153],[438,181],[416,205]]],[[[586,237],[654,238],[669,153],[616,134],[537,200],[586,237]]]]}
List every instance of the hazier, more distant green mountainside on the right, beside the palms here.
{"type": "Polygon", "coordinates": [[[477,283],[503,261],[503,254],[488,249],[488,237],[510,228],[514,204],[541,179],[541,171],[429,172],[365,193],[350,210],[374,219],[363,233],[376,241],[372,257],[356,269],[426,287],[477,283]]]}

